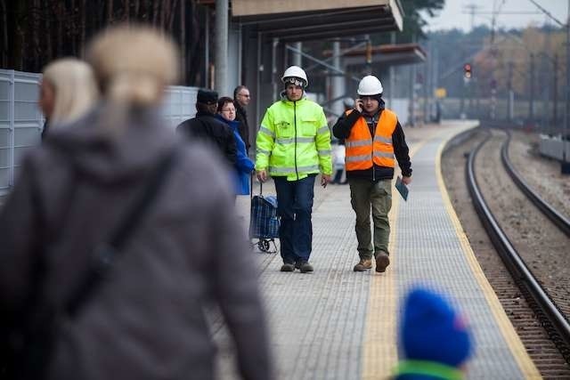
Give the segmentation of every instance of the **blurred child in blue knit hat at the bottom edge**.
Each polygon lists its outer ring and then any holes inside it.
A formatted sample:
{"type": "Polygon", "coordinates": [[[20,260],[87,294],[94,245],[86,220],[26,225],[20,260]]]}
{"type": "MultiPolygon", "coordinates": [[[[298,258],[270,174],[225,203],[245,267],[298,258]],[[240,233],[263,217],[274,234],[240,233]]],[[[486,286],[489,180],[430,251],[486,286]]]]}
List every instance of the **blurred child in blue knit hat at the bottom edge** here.
{"type": "Polygon", "coordinates": [[[406,296],[400,320],[403,360],[397,380],[460,380],[473,353],[465,321],[442,295],[414,287],[406,296]]]}

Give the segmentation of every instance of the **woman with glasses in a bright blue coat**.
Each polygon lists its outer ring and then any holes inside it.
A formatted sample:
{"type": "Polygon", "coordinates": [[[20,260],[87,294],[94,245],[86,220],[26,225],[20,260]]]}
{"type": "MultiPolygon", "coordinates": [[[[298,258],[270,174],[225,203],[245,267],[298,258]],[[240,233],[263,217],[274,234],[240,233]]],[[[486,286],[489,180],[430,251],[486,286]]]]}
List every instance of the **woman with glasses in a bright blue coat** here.
{"type": "Polygon", "coordinates": [[[249,175],[255,167],[255,163],[248,158],[246,144],[240,136],[240,122],[235,119],[235,103],[232,98],[223,97],[217,101],[217,118],[222,120],[232,129],[237,148],[237,159],[234,166],[236,195],[249,194],[249,175]]]}

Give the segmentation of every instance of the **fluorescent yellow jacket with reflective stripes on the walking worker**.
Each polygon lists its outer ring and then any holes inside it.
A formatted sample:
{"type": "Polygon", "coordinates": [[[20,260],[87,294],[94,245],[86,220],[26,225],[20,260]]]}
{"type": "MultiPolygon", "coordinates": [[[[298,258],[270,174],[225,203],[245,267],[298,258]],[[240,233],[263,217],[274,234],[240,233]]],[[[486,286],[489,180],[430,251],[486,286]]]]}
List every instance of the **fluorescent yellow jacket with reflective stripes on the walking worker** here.
{"type": "Polygon", "coordinates": [[[256,170],[297,181],[332,174],[330,130],[322,107],[305,98],[276,101],[256,137],[256,170]]]}

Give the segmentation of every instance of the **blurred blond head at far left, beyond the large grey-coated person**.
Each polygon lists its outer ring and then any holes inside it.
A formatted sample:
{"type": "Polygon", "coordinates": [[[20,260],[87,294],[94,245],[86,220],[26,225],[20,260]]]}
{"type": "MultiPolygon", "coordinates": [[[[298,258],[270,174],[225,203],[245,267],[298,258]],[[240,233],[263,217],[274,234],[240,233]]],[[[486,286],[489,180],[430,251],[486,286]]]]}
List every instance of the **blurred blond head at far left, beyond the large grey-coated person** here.
{"type": "Polygon", "coordinates": [[[62,58],[45,66],[39,106],[48,125],[69,124],[92,109],[99,96],[91,66],[76,58],[62,58]]]}

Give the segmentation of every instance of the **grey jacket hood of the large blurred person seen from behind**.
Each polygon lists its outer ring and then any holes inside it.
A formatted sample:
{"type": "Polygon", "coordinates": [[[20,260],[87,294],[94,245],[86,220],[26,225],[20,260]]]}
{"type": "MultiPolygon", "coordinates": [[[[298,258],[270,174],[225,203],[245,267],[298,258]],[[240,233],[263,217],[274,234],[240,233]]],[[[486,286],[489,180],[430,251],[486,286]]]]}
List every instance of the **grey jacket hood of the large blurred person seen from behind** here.
{"type": "Polygon", "coordinates": [[[48,133],[44,147],[65,156],[96,182],[119,182],[151,170],[175,145],[175,133],[158,109],[118,109],[100,104],[85,117],[48,133]]]}

